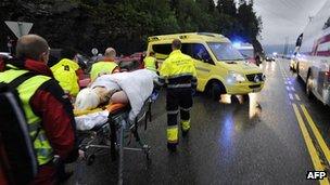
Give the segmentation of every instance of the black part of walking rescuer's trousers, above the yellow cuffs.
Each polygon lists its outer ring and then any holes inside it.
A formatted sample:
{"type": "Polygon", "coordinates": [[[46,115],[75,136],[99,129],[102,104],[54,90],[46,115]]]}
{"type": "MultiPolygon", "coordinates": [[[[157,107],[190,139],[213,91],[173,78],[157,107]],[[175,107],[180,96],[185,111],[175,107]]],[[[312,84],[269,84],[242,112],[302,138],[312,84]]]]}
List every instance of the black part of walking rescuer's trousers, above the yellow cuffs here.
{"type": "Polygon", "coordinates": [[[190,120],[190,109],[192,107],[192,89],[167,89],[166,93],[166,110],[167,110],[167,125],[178,125],[178,114],[180,113],[181,121],[190,120]]]}

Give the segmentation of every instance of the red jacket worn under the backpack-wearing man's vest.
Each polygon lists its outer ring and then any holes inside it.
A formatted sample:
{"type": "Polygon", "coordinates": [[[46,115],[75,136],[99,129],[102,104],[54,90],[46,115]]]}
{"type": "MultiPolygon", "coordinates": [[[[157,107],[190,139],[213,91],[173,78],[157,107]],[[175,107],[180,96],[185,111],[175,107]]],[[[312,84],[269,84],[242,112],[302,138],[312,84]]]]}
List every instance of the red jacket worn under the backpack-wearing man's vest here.
{"type": "MultiPolygon", "coordinates": [[[[52,78],[45,82],[31,96],[30,106],[42,120],[41,127],[54,149],[54,155],[59,155],[63,161],[72,162],[76,160],[78,156],[76,125],[69,100],[54,80],[50,68],[46,64],[33,60],[16,63],[15,66],[18,68],[52,78]]],[[[1,66],[3,69],[3,65],[0,64],[0,71],[1,66]]],[[[52,163],[40,166],[34,184],[52,184],[54,179],[55,168],[52,163]]]]}

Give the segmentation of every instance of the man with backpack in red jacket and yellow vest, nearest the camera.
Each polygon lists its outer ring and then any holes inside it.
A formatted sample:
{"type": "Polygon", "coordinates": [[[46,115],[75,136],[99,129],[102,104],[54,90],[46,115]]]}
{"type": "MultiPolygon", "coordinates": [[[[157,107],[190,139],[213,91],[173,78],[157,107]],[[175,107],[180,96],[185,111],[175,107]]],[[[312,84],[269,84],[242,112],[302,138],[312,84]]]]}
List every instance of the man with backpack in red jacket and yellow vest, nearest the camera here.
{"type": "Polygon", "coordinates": [[[47,66],[49,47],[43,38],[21,37],[16,57],[5,62],[4,70],[0,68],[0,82],[10,83],[33,74],[16,88],[39,166],[31,184],[56,184],[54,156],[66,162],[78,157],[73,107],[47,66]]]}

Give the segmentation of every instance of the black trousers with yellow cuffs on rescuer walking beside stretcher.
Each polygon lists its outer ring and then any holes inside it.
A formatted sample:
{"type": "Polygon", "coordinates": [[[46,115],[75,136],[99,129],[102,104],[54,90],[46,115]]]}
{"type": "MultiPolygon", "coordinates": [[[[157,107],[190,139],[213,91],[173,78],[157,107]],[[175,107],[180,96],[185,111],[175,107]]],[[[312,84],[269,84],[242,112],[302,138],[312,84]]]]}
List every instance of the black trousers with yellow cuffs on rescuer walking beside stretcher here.
{"type": "Polygon", "coordinates": [[[167,143],[178,143],[178,114],[182,131],[190,129],[190,109],[192,107],[191,88],[169,89],[166,94],[167,143]]]}

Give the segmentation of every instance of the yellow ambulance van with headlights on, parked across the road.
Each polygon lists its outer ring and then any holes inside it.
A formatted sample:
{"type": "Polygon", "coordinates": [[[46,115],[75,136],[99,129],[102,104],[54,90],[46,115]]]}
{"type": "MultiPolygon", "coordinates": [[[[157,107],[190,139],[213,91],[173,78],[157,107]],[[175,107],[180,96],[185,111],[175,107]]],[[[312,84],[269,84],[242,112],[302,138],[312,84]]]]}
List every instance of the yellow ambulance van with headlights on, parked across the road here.
{"type": "Polygon", "coordinates": [[[259,67],[249,64],[230,40],[218,34],[188,32],[149,37],[148,51],[154,52],[160,65],[172,52],[173,39],[180,39],[181,51],[190,55],[198,72],[198,91],[219,94],[259,92],[266,77],[259,67]]]}

